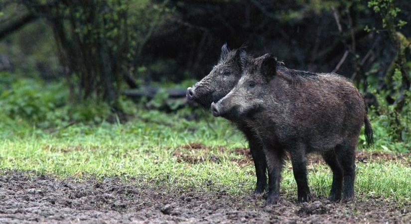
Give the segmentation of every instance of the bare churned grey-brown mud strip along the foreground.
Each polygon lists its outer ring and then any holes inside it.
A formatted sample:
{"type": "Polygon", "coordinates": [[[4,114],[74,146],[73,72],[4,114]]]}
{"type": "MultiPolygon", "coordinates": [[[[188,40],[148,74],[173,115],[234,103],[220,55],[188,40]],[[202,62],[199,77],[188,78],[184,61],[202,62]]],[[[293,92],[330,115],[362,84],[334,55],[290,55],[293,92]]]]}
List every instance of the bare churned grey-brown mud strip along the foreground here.
{"type": "Polygon", "coordinates": [[[0,223],[409,223],[411,204],[357,199],[331,203],[282,200],[264,207],[264,196],[152,188],[118,178],[60,180],[0,172],[0,223]]]}

